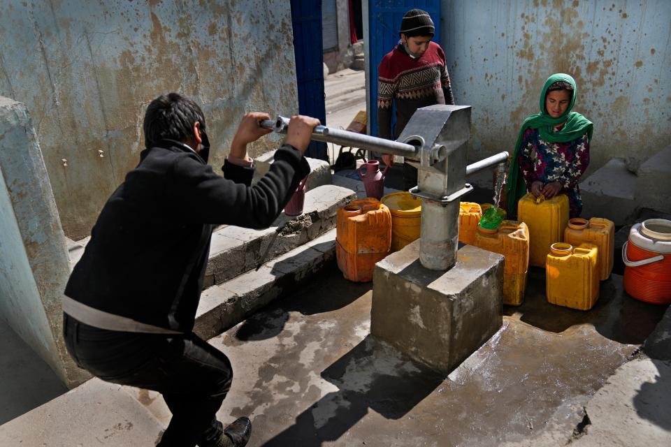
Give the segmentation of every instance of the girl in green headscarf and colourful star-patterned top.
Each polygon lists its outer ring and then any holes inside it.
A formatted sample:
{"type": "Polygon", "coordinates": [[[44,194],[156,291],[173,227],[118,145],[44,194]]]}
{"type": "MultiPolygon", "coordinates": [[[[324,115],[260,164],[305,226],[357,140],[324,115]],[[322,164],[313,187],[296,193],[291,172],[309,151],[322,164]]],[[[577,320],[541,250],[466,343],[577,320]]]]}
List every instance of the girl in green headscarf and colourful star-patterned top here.
{"type": "Polygon", "coordinates": [[[579,217],[582,199],[578,180],[589,164],[592,123],[572,112],[577,89],[565,73],[551,75],[540,94],[540,113],[524,120],[510,163],[505,191],[508,214],[527,191],[538,197],[568,196],[570,217],[579,217]]]}

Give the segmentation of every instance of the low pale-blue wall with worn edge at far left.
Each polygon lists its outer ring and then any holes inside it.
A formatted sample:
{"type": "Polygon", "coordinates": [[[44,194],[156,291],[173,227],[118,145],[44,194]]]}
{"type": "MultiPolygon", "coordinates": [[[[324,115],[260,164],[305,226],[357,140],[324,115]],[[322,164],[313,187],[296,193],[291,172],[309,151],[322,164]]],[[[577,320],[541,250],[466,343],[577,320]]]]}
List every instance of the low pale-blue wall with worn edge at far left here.
{"type": "Polygon", "coordinates": [[[70,264],[27,110],[0,96],[0,318],[68,386],[85,379],[66,352],[61,296],[70,264]]]}

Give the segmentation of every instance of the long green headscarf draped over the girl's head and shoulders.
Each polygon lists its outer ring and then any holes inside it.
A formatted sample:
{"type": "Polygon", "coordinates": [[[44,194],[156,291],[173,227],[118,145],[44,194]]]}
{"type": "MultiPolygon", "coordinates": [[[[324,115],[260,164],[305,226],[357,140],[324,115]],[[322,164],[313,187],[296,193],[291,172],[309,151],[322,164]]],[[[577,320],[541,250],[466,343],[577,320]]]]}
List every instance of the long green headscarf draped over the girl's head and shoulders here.
{"type": "Polygon", "coordinates": [[[526,194],[526,182],[524,182],[524,175],[522,175],[519,170],[517,157],[519,156],[519,149],[522,144],[524,131],[526,131],[528,127],[531,127],[531,129],[538,129],[540,138],[547,142],[568,142],[582,137],[585,133],[587,134],[587,138],[591,141],[593,130],[592,123],[578,112],[571,112],[571,109],[575,104],[576,96],[577,88],[575,86],[575,80],[570,75],[565,73],[555,73],[545,81],[543,90],[540,93],[540,113],[529,115],[524,120],[521,129],[519,129],[515,150],[512,153],[508,178],[505,184],[505,191],[508,196],[508,214],[510,216],[517,215],[517,201],[526,194]],[[573,87],[573,95],[564,114],[561,115],[561,117],[553,118],[548,115],[547,110],[545,109],[545,95],[547,94],[547,89],[557,81],[568,82],[573,87]],[[565,124],[560,131],[552,131],[554,126],[563,122],[565,122],[565,124]]]}

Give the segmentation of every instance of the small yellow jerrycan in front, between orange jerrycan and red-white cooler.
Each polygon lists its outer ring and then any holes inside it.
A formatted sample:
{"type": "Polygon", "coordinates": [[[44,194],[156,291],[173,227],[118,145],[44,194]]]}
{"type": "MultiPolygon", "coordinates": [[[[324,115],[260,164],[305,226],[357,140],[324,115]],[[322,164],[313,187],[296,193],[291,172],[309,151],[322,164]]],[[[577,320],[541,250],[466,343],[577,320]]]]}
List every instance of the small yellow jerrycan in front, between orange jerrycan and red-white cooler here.
{"type": "Polygon", "coordinates": [[[598,248],[584,242],[573,247],[556,242],[545,266],[547,301],[571,309],[589,310],[599,298],[598,248]]]}

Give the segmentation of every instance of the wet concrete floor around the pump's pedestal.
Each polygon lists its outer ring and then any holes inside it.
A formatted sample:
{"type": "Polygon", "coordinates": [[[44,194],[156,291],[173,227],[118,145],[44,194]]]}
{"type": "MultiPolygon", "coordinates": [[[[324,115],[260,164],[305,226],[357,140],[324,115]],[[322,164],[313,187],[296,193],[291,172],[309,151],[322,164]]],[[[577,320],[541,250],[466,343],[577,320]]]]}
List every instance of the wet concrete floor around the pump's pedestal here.
{"type": "Polygon", "coordinates": [[[210,339],[235,372],[219,418],[249,416],[250,446],[564,445],[666,310],[629,298],[619,275],[590,311],[556,307],[531,268],[524,304],[445,377],[370,336],[371,288],[333,266],[210,339]]]}

